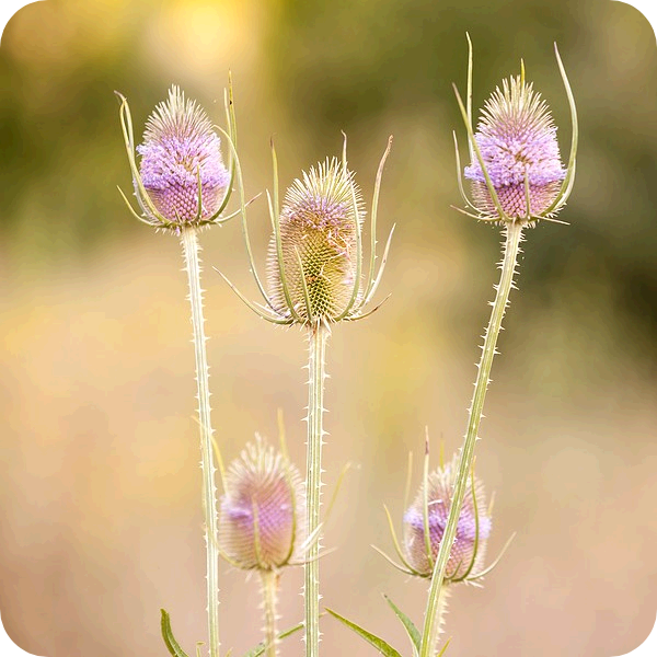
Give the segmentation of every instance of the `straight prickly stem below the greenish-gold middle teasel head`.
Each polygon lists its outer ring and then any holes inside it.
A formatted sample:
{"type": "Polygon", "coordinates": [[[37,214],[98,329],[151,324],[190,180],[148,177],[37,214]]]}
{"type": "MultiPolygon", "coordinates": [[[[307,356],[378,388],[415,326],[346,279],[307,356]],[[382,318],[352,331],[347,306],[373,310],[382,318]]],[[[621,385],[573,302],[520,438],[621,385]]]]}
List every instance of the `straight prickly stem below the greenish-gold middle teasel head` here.
{"type": "Polygon", "coordinates": [[[324,379],[326,342],[328,330],[323,324],[313,326],[309,333],[309,390],[308,390],[308,445],[306,461],[306,495],[308,535],[312,542],[306,562],[303,588],[306,612],[306,655],[320,654],[320,541],[315,535],[320,527],[320,498],[322,486],[322,439],[324,429],[324,379]]]}

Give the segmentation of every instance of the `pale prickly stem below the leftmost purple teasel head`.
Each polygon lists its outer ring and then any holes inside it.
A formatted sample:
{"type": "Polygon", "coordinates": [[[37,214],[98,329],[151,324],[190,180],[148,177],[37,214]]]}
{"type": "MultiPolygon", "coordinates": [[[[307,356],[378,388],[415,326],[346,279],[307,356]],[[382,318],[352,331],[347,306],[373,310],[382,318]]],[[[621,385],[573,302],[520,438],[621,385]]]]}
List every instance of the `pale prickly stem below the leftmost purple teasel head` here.
{"type": "Polygon", "coordinates": [[[185,269],[189,283],[196,383],[198,385],[198,419],[200,427],[200,468],[203,471],[203,512],[205,521],[208,632],[210,657],[219,657],[219,550],[217,545],[217,488],[212,457],[212,427],[210,424],[210,389],[203,316],[199,246],[194,227],[181,232],[185,269]]]}

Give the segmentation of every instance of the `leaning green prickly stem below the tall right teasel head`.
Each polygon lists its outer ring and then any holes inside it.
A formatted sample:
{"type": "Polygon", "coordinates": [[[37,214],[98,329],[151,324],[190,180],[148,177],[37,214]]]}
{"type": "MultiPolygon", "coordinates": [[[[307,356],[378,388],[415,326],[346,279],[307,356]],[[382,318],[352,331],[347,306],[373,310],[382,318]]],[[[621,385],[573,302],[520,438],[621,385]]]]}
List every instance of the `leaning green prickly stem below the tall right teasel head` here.
{"type": "Polygon", "coordinates": [[[447,568],[449,554],[457,535],[457,526],[463,498],[468,491],[470,482],[470,472],[474,459],[474,443],[477,438],[479,427],[484,410],[484,400],[486,399],[486,390],[491,376],[491,367],[495,356],[495,345],[497,336],[502,328],[502,320],[508,303],[509,292],[514,285],[514,275],[516,273],[516,264],[520,241],[522,239],[522,223],[519,221],[507,222],[506,224],[506,241],[504,246],[504,258],[502,262],[502,275],[499,285],[496,288],[495,301],[491,320],[486,328],[484,346],[482,347],[482,358],[479,364],[479,371],[474,384],[474,395],[470,406],[470,417],[468,420],[468,433],[461,450],[459,459],[459,472],[454,483],[452,503],[449,511],[449,518],[445,528],[445,533],[440,542],[440,550],[436,557],[434,566],[434,575],[431,577],[431,587],[429,589],[429,598],[427,600],[427,609],[425,612],[425,624],[422,636],[420,657],[434,657],[436,654],[436,644],[440,633],[440,590],[445,588],[443,578],[447,568]]]}

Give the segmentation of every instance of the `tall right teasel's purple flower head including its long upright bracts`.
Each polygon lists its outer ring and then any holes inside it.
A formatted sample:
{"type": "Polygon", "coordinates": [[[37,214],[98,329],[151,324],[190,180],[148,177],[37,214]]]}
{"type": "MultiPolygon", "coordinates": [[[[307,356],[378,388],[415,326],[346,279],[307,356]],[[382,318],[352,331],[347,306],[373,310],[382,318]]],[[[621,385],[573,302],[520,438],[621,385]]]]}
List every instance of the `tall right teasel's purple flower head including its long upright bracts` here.
{"type": "Polygon", "coordinates": [[[466,215],[487,221],[529,223],[538,219],[554,220],[556,212],[566,204],[575,180],[577,112],[556,45],[555,53],[573,123],[567,168],[562,164],[556,126],[550,108],[533,85],[526,81],[523,64],[520,74],[504,80],[486,101],[476,132],[473,132],[470,45],[466,107],[457,91],[471,158],[463,175],[470,181],[472,199],[463,189],[457,146],[459,185],[469,208],[462,211],[466,215]]]}

